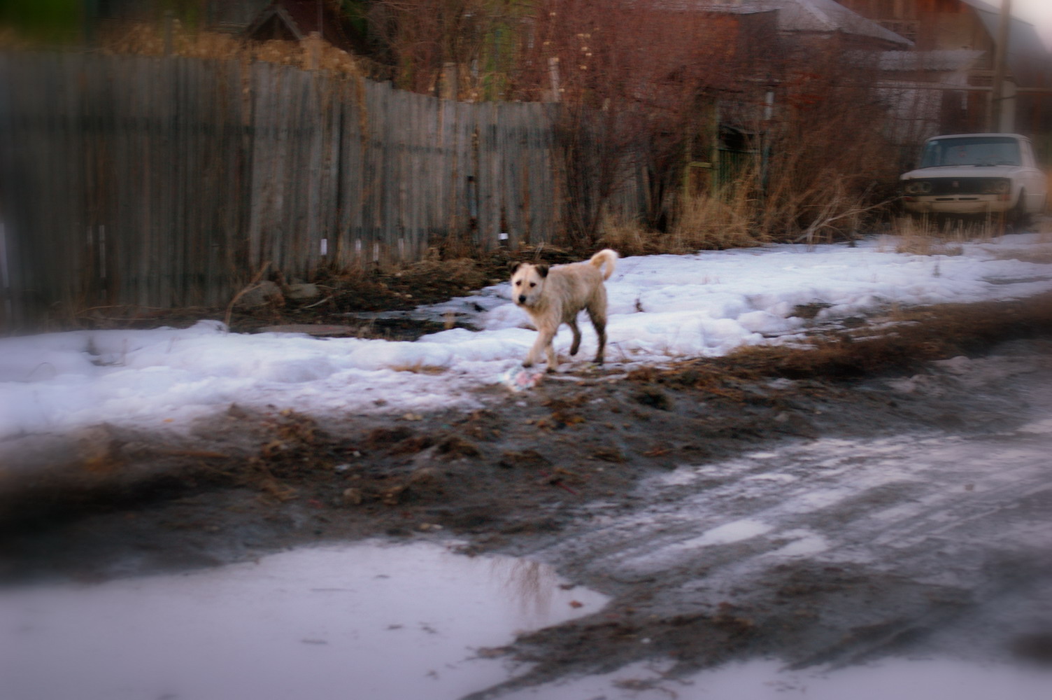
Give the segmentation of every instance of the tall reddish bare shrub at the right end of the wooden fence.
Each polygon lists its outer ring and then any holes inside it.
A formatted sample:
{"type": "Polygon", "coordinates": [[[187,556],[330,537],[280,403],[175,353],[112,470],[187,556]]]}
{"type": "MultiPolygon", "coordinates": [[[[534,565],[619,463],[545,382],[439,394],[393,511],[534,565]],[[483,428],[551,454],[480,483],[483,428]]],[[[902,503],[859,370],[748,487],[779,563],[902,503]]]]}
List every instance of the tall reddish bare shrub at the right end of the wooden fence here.
{"type": "Polygon", "coordinates": [[[619,188],[641,176],[645,223],[663,227],[699,104],[747,73],[719,17],[656,0],[537,4],[513,84],[522,99],[561,103],[555,142],[570,244],[592,246],[608,209],[619,208],[619,188]]]}

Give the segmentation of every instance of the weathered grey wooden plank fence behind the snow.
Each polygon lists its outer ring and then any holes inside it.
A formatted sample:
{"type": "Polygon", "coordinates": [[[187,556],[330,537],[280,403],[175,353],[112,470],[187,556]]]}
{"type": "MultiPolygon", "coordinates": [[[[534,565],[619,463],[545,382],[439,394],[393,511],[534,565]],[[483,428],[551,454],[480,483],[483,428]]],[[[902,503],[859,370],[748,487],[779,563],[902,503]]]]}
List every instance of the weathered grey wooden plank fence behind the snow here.
{"type": "Polygon", "coordinates": [[[547,240],[555,108],[268,63],[2,54],[0,314],[222,305],[265,265],[306,279],[446,236],[547,240]]]}

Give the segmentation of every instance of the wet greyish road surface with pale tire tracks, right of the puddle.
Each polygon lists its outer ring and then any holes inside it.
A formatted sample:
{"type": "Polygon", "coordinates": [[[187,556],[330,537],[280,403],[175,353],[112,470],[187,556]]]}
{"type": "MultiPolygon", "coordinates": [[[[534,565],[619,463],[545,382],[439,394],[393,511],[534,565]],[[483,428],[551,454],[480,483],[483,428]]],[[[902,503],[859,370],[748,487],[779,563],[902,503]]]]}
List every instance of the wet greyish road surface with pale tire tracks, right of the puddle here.
{"type": "Polygon", "coordinates": [[[756,655],[1052,662],[1052,392],[1035,349],[856,388],[959,402],[937,417],[948,429],[791,439],[591,504],[533,555],[613,593],[620,616],[525,640],[542,661],[529,681],[641,647],[684,673],[756,655]]]}

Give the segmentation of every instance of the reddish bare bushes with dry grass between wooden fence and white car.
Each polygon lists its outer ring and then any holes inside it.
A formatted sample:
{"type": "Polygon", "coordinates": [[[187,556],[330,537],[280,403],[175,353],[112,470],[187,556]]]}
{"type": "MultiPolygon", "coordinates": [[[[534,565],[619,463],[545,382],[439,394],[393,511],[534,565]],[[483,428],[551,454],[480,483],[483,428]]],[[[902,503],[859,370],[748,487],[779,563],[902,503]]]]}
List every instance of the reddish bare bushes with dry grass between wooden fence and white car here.
{"type": "Polygon", "coordinates": [[[625,224],[609,231],[611,219],[638,226],[616,195],[641,173],[648,197],[640,223],[653,233],[643,241],[632,232],[633,248],[810,243],[852,237],[885,214],[899,146],[889,105],[857,58],[834,41],[784,51],[773,29],[743,43],[728,31],[736,21],[729,15],[671,7],[538,5],[517,86],[524,99],[562,103],[568,243],[624,238],[625,224]],[[765,114],[768,92],[773,114],[765,114]],[[750,135],[753,162],[734,182],[711,169],[695,186],[688,161],[715,161],[715,125],[728,118],[750,135]]]}

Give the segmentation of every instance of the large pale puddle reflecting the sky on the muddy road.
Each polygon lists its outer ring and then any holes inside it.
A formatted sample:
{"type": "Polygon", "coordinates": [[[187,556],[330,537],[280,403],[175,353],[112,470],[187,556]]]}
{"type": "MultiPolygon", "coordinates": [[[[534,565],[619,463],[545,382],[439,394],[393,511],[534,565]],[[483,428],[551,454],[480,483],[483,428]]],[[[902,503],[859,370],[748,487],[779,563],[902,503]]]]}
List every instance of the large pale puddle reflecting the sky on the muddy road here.
{"type": "Polygon", "coordinates": [[[451,700],[522,671],[485,649],[606,601],[544,564],[425,543],[3,589],[0,697],[451,700]]]}

